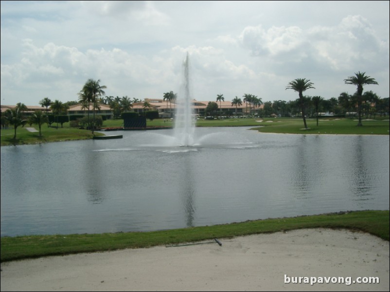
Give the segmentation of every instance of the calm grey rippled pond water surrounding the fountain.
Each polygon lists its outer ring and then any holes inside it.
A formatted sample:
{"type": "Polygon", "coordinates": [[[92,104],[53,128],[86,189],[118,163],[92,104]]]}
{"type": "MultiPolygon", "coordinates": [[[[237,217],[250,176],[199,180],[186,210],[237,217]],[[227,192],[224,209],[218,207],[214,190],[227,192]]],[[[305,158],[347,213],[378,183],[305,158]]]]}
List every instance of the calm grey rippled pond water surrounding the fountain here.
{"type": "Polygon", "coordinates": [[[197,128],[1,147],[1,236],[147,231],[389,210],[389,136],[197,128]]]}

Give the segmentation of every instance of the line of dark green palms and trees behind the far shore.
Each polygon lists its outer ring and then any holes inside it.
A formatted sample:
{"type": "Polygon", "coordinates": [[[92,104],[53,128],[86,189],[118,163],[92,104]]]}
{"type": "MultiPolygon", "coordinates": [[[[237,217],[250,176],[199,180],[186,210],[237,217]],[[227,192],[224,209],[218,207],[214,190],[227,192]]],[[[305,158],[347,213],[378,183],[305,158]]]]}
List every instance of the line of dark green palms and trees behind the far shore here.
{"type": "MultiPolygon", "coordinates": [[[[357,72],[355,75],[349,76],[344,79],[345,84],[351,84],[356,86],[356,92],[353,95],[349,95],[347,92],[340,93],[338,98],[332,97],[328,100],[325,100],[320,96],[303,96],[303,92],[308,89],[315,89],[314,84],[305,78],[303,79],[295,79],[290,81],[287,86],[287,89],[292,89],[298,92],[299,98],[294,101],[283,101],[283,100],[275,100],[274,102],[267,101],[264,103],[264,107],[260,108],[263,104],[263,101],[260,97],[257,97],[252,94],[244,94],[243,99],[239,97],[233,98],[231,101],[231,106],[235,106],[235,113],[237,114],[237,107],[241,106],[243,103],[246,103],[248,113],[249,106],[249,114],[251,114],[252,106],[255,110],[258,109],[259,116],[271,116],[272,114],[278,115],[281,117],[284,116],[301,116],[303,118],[303,124],[305,129],[307,129],[306,117],[313,116],[316,114],[317,116],[317,125],[318,125],[318,116],[321,111],[334,113],[335,115],[348,115],[348,114],[357,114],[358,116],[358,124],[357,126],[362,126],[362,116],[371,117],[375,114],[386,114],[389,113],[389,97],[380,98],[372,91],[364,92],[363,94],[363,86],[370,84],[378,84],[375,79],[367,76],[365,72],[357,72]]],[[[36,111],[33,113],[28,119],[23,114],[24,111],[27,110],[27,107],[23,103],[18,103],[14,109],[9,109],[5,112],[4,115],[1,116],[1,125],[11,124],[14,126],[15,134],[14,139],[16,139],[16,130],[19,126],[23,127],[26,123],[37,124],[39,127],[39,135],[41,135],[41,125],[44,123],[48,123],[48,126],[53,122],[58,123],[65,122],[64,119],[61,119],[61,115],[66,115],[67,110],[70,106],[75,104],[81,104],[82,109],[88,110],[87,114],[87,129],[92,130],[92,134],[96,129],[96,117],[95,110],[100,109],[100,104],[106,104],[113,111],[114,118],[120,117],[120,115],[124,112],[130,111],[133,107],[134,103],[142,102],[141,99],[133,98],[132,100],[125,97],[113,97],[113,96],[105,96],[106,89],[105,85],[100,85],[100,79],[95,81],[93,79],[89,79],[83,86],[83,88],[78,93],[79,99],[78,101],[68,101],[61,102],[59,100],[50,100],[50,98],[45,97],[39,101],[39,104],[46,108],[46,113],[42,113],[41,111],[36,111]],[[48,115],[48,109],[51,109],[52,116],[48,115]],[[92,121],[89,118],[89,110],[90,107],[93,109],[93,117],[92,121]],[[54,116],[54,118],[53,118],[54,116]],[[55,118],[56,117],[56,118],[55,118]]],[[[173,91],[166,92],[163,94],[163,100],[170,102],[170,108],[172,113],[172,103],[175,103],[177,99],[177,94],[173,91]]],[[[222,106],[221,102],[225,101],[225,97],[223,94],[218,94],[216,97],[216,101],[219,101],[219,110],[220,114],[222,114],[222,106]]],[[[151,108],[149,102],[144,101],[142,107],[145,110],[151,108]]],[[[218,109],[218,104],[216,102],[209,102],[206,107],[206,113],[215,113],[218,109]]]]}

